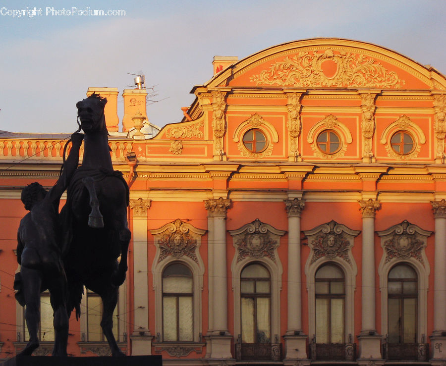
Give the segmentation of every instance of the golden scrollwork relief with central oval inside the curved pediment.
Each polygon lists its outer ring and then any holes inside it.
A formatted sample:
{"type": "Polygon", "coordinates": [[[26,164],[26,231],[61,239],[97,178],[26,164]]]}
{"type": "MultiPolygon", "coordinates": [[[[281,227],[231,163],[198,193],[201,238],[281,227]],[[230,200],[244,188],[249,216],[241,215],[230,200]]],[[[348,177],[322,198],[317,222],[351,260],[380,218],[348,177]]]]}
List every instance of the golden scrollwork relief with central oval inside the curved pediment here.
{"type": "Polygon", "coordinates": [[[346,51],[298,52],[251,76],[257,85],[299,87],[400,88],[404,80],[364,54],[346,51]]]}

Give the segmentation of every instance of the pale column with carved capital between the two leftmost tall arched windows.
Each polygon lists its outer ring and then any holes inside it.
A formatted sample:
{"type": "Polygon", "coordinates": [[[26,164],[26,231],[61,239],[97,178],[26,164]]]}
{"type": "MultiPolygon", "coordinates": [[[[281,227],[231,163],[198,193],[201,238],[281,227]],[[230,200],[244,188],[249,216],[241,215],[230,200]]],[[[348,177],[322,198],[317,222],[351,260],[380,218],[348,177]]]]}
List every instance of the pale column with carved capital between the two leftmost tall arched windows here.
{"type": "Polygon", "coordinates": [[[212,319],[210,332],[207,335],[208,344],[211,348],[210,358],[228,359],[232,358],[230,351],[231,335],[227,327],[227,259],[226,259],[226,211],[231,204],[230,200],[222,197],[205,201],[208,210],[208,228],[213,230],[209,238],[212,246],[208,262],[212,265],[212,277],[209,278],[209,286],[212,291],[209,297],[209,315],[212,319]],[[211,297],[212,296],[212,297],[211,297]]]}

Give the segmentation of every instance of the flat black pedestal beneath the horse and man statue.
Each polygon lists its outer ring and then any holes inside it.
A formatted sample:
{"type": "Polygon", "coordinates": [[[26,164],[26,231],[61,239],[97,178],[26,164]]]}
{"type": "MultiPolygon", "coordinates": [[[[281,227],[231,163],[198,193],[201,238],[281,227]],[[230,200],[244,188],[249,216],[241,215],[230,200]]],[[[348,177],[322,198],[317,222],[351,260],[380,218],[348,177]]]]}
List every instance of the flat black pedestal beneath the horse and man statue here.
{"type": "Polygon", "coordinates": [[[16,356],[1,366],[163,366],[161,356],[51,357],[16,356]]]}

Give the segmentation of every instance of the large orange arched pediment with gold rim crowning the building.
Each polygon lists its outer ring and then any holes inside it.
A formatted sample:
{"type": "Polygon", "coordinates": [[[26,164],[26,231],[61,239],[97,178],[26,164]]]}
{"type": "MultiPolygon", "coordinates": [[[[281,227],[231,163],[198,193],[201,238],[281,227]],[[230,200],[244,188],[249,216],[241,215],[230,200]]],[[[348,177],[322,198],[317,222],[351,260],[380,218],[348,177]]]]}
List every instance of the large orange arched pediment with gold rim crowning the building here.
{"type": "Polygon", "coordinates": [[[443,89],[438,71],[373,44],[337,38],[284,43],[254,53],[208,87],[443,89]]]}

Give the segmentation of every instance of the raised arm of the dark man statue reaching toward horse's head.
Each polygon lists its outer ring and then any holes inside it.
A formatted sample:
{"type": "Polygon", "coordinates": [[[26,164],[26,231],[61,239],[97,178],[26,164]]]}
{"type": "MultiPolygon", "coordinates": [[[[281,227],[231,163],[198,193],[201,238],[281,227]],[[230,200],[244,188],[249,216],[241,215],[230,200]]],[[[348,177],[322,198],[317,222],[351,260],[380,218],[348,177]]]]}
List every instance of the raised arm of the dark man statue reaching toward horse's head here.
{"type": "Polygon", "coordinates": [[[73,133],[71,135],[72,146],[70,153],[65,160],[62,168],[62,174],[56,182],[56,185],[48,192],[48,197],[51,201],[59,200],[65,189],[68,187],[74,172],[79,164],[79,150],[82,145],[84,134],[73,133]]]}

